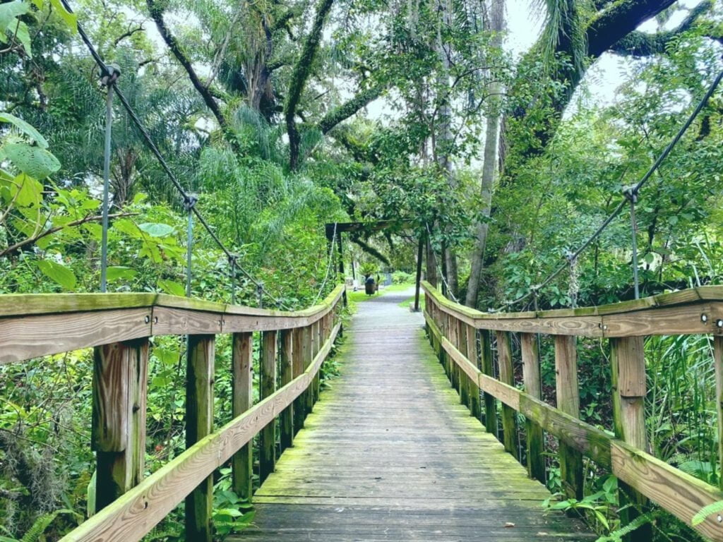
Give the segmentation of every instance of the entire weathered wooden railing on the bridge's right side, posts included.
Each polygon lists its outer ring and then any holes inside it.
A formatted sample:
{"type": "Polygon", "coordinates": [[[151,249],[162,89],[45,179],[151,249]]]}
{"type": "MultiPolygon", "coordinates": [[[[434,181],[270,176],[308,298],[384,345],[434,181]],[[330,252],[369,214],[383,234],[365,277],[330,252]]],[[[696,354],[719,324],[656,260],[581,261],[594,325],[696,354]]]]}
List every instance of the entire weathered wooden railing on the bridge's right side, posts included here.
{"type": "MultiPolygon", "coordinates": [[[[479,417],[479,392],[484,392],[484,423],[492,433],[497,429],[495,400],[500,400],[502,442],[508,452],[515,449],[516,413],[526,418],[529,476],[544,482],[544,430],[559,439],[560,474],[568,496],[582,497],[584,455],[617,476],[624,498],[636,499],[638,504],[650,499],[688,525],[704,506],[723,501],[719,489],[648,453],[643,353],[646,335],[714,336],[718,434],[723,435],[723,287],[694,288],[584,309],[502,314],[455,304],[429,283],[423,283],[423,288],[429,339],[461,400],[479,417]],[[492,376],[491,333],[497,341],[499,379],[492,376]],[[519,334],[524,391],[514,379],[512,333],[519,334]],[[538,333],[554,337],[557,408],[541,400],[538,333]],[[610,341],[615,437],[578,419],[576,337],[610,341]]],[[[723,460],[720,437],[719,447],[723,460]]],[[[723,515],[709,515],[696,529],[723,541],[723,515]]],[[[634,539],[643,540],[639,536],[634,539]]]]}

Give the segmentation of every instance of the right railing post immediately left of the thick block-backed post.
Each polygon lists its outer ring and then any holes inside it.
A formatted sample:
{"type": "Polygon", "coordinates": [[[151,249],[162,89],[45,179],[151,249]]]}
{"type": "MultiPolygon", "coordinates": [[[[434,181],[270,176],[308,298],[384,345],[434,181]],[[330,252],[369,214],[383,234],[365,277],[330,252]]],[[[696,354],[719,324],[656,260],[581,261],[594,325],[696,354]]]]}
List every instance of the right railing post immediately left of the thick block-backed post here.
{"type": "MultiPolygon", "coordinates": [[[[555,387],[557,408],[570,416],[580,418],[576,344],[576,337],[555,335],[555,387]]],[[[583,498],[583,456],[563,442],[560,442],[560,478],[568,497],[578,500],[583,498]]]]}

